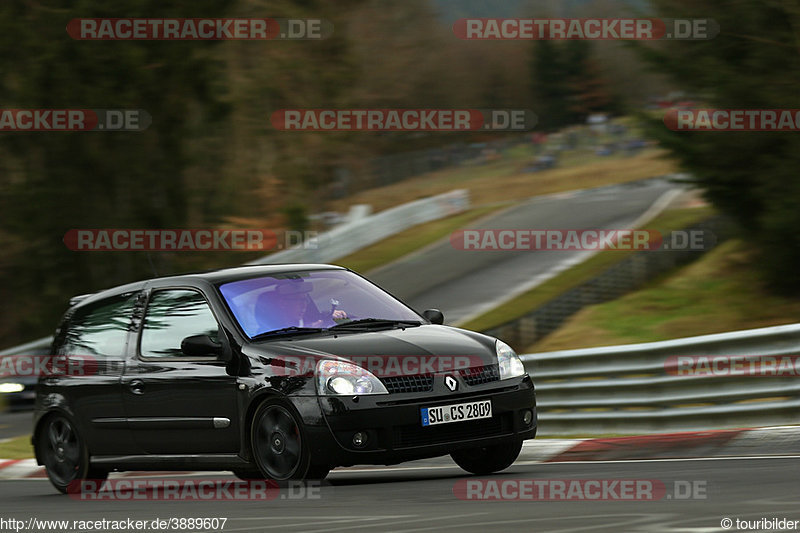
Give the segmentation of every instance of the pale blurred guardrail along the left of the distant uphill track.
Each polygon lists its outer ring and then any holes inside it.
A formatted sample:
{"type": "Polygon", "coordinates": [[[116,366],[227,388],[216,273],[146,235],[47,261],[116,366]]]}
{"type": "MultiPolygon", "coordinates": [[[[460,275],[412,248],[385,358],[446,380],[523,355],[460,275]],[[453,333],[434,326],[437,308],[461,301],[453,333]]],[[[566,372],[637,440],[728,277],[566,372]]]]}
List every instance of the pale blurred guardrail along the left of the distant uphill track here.
{"type": "Polygon", "coordinates": [[[308,243],[251,261],[250,265],[274,263],[328,263],[390,237],[417,224],[466,211],[469,191],[454,191],[366,215],[321,233],[316,246],[308,243]]]}

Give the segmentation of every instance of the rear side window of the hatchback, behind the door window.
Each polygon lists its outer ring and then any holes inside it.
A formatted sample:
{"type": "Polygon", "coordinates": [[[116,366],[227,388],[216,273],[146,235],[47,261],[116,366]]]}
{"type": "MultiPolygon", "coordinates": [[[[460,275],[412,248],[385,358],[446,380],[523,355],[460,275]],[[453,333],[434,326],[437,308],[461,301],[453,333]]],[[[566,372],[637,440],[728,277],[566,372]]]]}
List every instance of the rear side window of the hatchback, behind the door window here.
{"type": "Polygon", "coordinates": [[[59,335],[57,355],[124,357],[138,293],[126,293],[77,309],[59,335]]]}

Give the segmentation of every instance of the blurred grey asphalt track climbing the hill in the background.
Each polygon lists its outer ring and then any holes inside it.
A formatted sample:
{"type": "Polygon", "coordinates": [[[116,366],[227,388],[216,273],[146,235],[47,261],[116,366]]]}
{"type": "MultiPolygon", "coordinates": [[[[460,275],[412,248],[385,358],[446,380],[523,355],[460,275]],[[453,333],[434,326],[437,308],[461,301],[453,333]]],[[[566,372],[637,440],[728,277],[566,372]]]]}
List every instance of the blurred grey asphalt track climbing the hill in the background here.
{"type": "MultiPolygon", "coordinates": [[[[626,229],[678,186],[651,179],[534,197],[469,229],[626,229]]],[[[533,278],[586,257],[585,251],[464,251],[449,240],[369,273],[418,311],[441,309],[446,324],[487,311],[533,278]]]]}

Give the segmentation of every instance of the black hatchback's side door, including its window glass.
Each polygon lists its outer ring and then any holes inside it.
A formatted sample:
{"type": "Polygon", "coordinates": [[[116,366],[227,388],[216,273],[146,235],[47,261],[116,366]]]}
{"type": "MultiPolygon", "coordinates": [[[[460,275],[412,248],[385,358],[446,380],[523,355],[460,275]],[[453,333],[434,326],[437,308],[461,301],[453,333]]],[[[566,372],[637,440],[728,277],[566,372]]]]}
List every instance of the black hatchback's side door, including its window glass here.
{"type": "Polygon", "coordinates": [[[236,378],[215,356],[190,357],[181,341],[208,335],[219,322],[194,287],[150,289],[134,356],[122,378],[128,425],[150,454],[236,453],[236,378]]]}

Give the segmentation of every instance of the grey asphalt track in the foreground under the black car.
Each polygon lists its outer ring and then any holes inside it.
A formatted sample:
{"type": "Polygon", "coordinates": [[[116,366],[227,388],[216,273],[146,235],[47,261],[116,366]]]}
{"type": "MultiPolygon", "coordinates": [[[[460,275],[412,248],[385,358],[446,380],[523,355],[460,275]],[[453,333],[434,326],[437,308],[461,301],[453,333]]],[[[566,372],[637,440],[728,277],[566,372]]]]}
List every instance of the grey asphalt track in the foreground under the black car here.
{"type": "Polygon", "coordinates": [[[0,501],[4,516],[18,520],[227,517],[224,531],[701,532],[724,531],[726,517],[800,519],[798,469],[798,457],[518,463],[491,478],[656,480],[666,487],[658,501],[463,501],[453,486],[468,478],[449,459],[334,471],[313,499],[282,492],[267,502],[88,502],[56,494],[46,480],[20,480],[0,482],[0,501]],[[699,484],[705,499],[671,497],[676,481],[699,484]]]}

